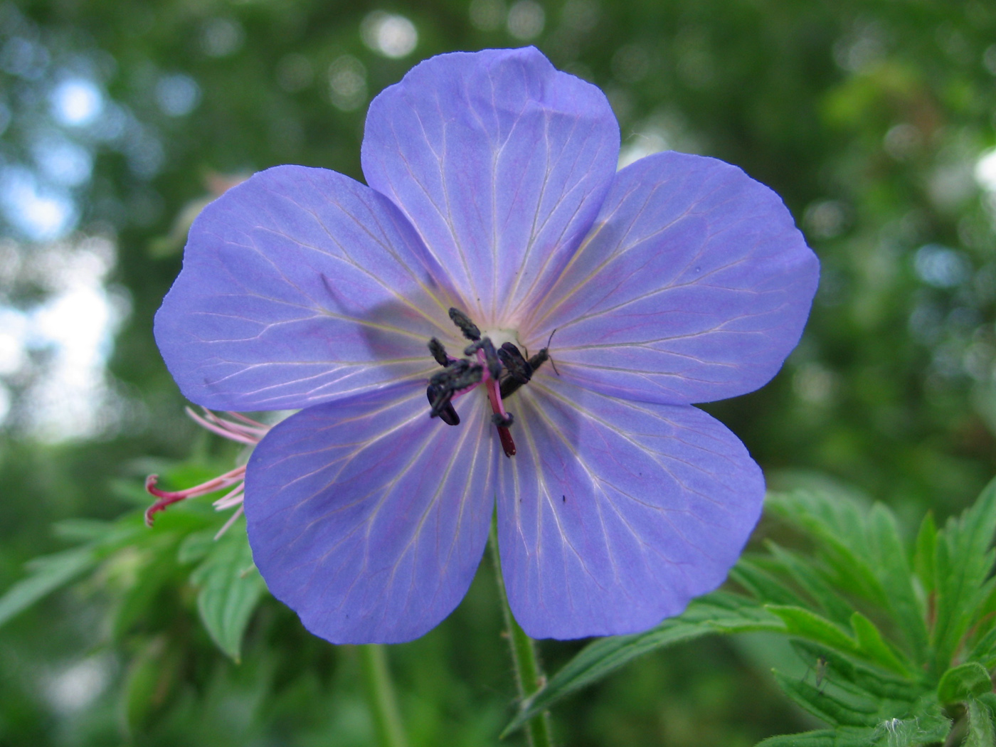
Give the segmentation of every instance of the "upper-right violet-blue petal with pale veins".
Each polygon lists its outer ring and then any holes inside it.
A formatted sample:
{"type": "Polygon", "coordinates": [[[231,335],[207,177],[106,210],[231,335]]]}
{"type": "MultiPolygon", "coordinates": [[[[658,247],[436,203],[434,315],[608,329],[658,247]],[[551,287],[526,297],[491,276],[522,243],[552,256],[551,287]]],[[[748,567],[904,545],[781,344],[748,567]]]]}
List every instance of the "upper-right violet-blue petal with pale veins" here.
{"type": "Polygon", "coordinates": [[[623,168],[530,326],[557,366],[644,401],[708,402],[767,383],[819,278],[778,195],[736,166],[665,152],[623,168]]]}

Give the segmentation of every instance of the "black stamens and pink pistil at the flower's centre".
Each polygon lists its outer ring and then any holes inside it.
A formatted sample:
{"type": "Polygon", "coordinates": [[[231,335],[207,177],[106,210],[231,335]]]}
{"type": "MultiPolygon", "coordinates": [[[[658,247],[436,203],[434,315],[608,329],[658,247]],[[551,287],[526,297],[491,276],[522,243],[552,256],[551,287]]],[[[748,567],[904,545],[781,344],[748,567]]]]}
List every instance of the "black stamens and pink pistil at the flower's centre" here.
{"type": "Polygon", "coordinates": [[[481,384],[487,390],[491,421],[498,428],[502,450],[505,456],[513,456],[515,441],[509,427],[514,418],[505,410],[504,399],[529,383],[533,373],[550,359],[550,355],[544,348],[526,360],[516,345],[519,339],[513,330],[495,330],[481,335],[477,325],[459,309],[450,309],[449,318],[470,345],[463,349],[464,358],[454,358],[438,340],[429,340],[429,353],[442,367],[442,371],[429,377],[425,390],[429,417],[438,417],[447,425],[459,425],[460,416],[453,407],[453,400],[481,384]]]}

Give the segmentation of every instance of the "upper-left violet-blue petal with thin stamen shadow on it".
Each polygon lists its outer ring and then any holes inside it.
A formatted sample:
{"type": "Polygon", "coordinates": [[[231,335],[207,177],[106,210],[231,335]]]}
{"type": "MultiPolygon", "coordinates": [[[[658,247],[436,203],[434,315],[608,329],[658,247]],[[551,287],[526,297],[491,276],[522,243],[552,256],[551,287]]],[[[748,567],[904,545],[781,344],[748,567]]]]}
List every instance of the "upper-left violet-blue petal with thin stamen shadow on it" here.
{"type": "Polygon", "coordinates": [[[277,166],[194,221],[155,341],[191,401],[307,407],[431,371],[452,303],[397,208],[335,171],[277,166]]]}

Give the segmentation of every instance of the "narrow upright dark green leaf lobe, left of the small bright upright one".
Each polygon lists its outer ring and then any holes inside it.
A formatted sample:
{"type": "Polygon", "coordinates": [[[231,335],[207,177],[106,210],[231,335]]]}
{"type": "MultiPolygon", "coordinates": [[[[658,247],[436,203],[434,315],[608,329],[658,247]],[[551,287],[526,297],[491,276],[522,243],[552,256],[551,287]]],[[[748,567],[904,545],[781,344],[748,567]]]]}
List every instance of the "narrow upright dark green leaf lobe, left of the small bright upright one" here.
{"type": "Polygon", "coordinates": [[[905,639],[907,651],[917,664],[922,664],[926,661],[929,633],[924,611],[916,601],[906,549],[892,512],[880,503],[874,504],[869,512],[868,529],[871,555],[889,612],[905,639]]]}

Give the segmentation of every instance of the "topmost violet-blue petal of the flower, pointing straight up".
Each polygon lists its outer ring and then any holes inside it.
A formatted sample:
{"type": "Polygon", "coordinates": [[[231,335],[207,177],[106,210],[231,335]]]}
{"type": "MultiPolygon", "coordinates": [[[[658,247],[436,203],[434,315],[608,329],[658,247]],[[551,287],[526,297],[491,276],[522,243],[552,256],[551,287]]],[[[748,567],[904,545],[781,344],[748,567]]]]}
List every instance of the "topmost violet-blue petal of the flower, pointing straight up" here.
{"type": "MultiPolygon", "coordinates": [[[[401,208],[478,324],[556,278],[616,172],[605,95],[534,48],[441,55],[371,104],[368,183],[401,208]]],[[[512,313],[507,313],[512,310],[512,313]]]]}

